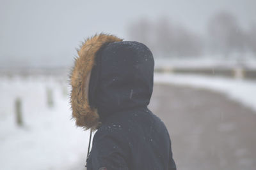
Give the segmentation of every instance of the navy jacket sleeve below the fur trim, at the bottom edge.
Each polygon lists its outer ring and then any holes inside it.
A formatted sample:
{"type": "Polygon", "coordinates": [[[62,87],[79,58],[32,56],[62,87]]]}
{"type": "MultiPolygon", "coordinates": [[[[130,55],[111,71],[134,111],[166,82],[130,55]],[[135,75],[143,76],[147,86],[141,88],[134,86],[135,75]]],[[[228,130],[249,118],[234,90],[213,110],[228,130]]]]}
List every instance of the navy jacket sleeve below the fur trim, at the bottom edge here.
{"type": "Polygon", "coordinates": [[[87,170],[129,170],[124,143],[112,136],[103,136],[93,143],[87,159],[87,170]]]}

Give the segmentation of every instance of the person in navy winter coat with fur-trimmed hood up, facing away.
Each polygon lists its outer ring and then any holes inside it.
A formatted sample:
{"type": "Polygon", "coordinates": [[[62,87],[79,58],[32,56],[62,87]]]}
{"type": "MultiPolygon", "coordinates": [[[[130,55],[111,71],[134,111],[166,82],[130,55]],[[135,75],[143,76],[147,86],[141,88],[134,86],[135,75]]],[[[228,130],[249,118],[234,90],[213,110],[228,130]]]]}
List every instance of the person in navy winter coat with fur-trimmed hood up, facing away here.
{"type": "Polygon", "coordinates": [[[99,34],[77,52],[72,117],[77,126],[97,130],[87,169],[176,169],[168,131],[147,108],[154,78],[147,46],[99,34]]]}

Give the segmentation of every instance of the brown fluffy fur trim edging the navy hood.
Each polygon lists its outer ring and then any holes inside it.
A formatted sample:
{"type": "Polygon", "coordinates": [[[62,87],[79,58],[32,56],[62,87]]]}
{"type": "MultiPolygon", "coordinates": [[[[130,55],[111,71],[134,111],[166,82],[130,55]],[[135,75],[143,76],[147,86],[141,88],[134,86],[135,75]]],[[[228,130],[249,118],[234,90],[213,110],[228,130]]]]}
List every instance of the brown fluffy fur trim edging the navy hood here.
{"type": "Polygon", "coordinates": [[[115,41],[122,41],[122,39],[108,34],[99,34],[88,38],[77,50],[79,57],[76,58],[74,68],[70,74],[72,86],[70,103],[72,118],[76,119],[77,126],[84,129],[92,128],[95,130],[99,126],[97,109],[90,108],[88,101],[90,74],[95,64],[95,55],[102,45],[115,41]]]}

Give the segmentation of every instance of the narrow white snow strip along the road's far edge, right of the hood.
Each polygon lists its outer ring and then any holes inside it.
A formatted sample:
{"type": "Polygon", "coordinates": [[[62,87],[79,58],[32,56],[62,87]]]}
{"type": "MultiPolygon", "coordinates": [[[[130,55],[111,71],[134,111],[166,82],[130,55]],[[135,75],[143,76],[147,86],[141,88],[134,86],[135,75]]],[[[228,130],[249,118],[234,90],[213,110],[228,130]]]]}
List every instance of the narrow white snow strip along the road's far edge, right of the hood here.
{"type": "Polygon", "coordinates": [[[170,83],[175,85],[188,85],[203,89],[215,90],[227,94],[230,99],[239,101],[245,106],[256,110],[256,81],[234,78],[221,78],[184,74],[156,73],[156,83],[170,83]]]}

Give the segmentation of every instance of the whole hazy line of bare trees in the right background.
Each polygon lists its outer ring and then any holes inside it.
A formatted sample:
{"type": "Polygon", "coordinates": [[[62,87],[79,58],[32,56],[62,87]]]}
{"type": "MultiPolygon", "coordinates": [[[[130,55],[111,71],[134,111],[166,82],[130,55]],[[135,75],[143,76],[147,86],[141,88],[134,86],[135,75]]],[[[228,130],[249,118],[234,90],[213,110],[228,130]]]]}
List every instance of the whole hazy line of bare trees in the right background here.
{"type": "Polygon", "coordinates": [[[243,57],[245,53],[256,57],[256,25],[245,30],[234,15],[222,11],[210,18],[205,32],[192,32],[165,17],[155,22],[141,18],[128,28],[131,39],[145,43],[161,57],[243,57]]]}

